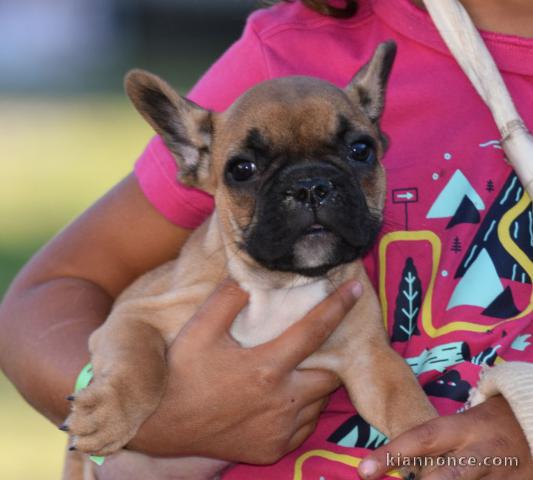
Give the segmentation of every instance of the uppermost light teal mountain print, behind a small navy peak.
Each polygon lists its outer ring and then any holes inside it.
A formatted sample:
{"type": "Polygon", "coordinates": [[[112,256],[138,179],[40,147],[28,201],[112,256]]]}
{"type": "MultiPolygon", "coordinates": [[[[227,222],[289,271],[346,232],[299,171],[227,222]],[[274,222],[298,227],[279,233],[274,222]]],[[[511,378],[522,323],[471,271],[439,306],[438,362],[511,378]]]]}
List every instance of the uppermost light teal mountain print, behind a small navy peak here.
{"type": "Polygon", "coordinates": [[[461,170],[456,170],[450,181],[433,202],[427,218],[453,217],[461,205],[465,195],[478,210],[485,210],[483,200],[474,190],[472,184],[466,179],[461,170]]]}

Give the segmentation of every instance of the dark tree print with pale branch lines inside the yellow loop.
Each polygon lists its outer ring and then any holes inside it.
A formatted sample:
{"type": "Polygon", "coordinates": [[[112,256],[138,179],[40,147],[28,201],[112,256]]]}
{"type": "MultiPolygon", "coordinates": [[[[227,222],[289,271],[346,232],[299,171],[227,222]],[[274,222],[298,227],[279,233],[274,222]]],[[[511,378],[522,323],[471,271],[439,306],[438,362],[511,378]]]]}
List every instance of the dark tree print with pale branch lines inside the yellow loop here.
{"type": "Polygon", "coordinates": [[[421,304],[422,285],[413,259],[408,257],[396,296],[392,342],[406,342],[413,335],[420,335],[417,323],[421,304]]]}

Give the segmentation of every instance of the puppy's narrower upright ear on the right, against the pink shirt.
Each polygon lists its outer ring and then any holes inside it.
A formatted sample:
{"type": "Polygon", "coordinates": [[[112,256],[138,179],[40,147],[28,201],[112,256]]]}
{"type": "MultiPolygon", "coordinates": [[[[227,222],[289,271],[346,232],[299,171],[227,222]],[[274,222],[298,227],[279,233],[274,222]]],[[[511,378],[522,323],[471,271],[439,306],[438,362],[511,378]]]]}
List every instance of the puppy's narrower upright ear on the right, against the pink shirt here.
{"type": "Polygon", "coordinates": [[[373,122],[378,121],[383,113],[385,89],[395,57],[395,42],[380,43],[370,61],[355,74],[345,89],[348,97],[360,105],[373,122]]]}

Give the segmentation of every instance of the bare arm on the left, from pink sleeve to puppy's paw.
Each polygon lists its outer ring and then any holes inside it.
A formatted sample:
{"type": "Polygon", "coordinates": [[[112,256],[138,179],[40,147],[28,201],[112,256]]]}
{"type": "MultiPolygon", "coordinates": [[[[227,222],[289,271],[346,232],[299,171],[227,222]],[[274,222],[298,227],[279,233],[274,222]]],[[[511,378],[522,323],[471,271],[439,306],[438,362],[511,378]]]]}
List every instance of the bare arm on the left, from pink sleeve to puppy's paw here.
{"type": "Polygon", "coordinates": [[[34,256],[0,306],[0,364],[31,405],[54,423],[65,418],[89,335],[118,293],[175,257],[188,235],[130,175],[34,256]]]}

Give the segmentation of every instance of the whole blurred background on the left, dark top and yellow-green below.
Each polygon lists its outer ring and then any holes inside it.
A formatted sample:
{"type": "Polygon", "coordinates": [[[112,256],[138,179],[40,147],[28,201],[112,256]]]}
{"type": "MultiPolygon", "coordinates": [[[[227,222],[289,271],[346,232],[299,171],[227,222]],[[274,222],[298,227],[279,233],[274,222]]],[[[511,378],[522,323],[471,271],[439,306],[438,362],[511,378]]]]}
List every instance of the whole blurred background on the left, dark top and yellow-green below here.
{"type": "MultiPolygon", "coordinates": [[[[259,0],[0,0],[0,298],[28,258],[127,175],[152,135],[122,92],[186,93],[259,0]]],[[[0,373],[0,478],[60,478],[66,436],[0,373]]]]}

